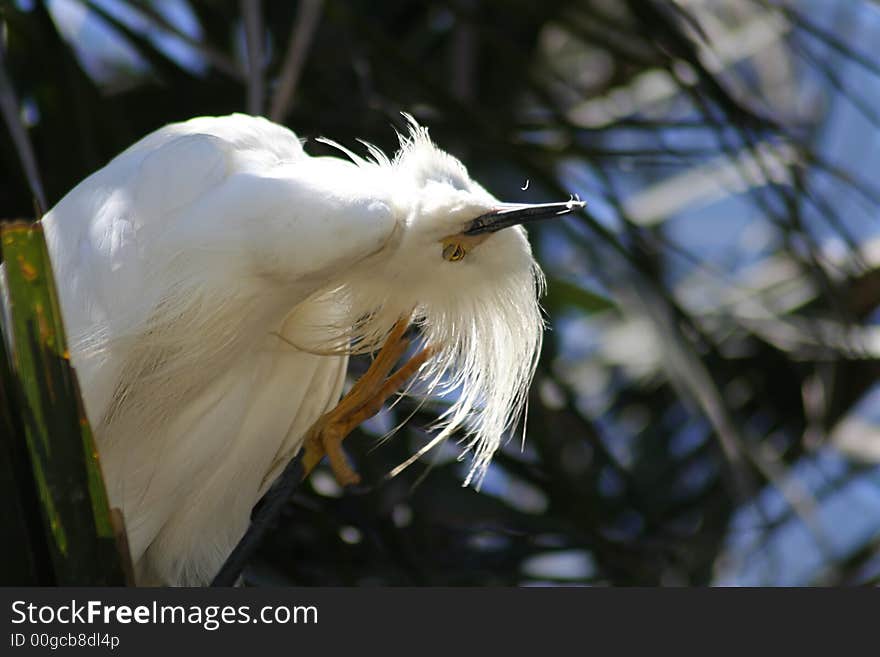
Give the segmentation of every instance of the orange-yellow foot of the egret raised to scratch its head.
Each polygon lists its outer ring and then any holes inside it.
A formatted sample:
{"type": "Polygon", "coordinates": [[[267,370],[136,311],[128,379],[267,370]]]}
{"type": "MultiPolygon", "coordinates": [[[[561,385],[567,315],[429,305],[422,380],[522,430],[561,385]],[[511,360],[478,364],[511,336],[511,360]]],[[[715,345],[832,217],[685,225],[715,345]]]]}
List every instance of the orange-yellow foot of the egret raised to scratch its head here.
{"type": "Polygon", "coordinates": [[[360,482],[361,478],[342,451],[342,441],[361,422],[378,413],[387,399],[399,390],[433,353],[431,347],[422,349],[389,376],[395,363],[406,351],[409,340],[403,337],[409,318],[397,321],[385,344],[366,373],[352,386],[329,413],[325,413],[309,430],[305,439],[303,466],[305,476],[315,468],[324,454],[340,486],[360,482]]]}

